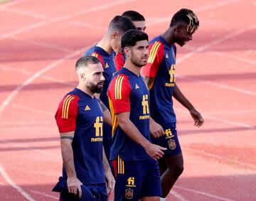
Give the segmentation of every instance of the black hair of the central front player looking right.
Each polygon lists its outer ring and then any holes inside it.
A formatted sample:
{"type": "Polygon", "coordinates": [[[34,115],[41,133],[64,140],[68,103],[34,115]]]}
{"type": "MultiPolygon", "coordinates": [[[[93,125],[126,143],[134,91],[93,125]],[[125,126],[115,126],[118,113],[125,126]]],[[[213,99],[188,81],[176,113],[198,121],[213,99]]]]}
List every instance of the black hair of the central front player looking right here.
{"type": "Polygon", "coordinates": [[[122,36],[121,46],[123,49],[128,46],[134,46],[136,45],[137,41],[140,40],[149,41],[149,36],[142,31],[137,31],[136,29],[129,30],[124,33],[124,36],[122,36]]]}

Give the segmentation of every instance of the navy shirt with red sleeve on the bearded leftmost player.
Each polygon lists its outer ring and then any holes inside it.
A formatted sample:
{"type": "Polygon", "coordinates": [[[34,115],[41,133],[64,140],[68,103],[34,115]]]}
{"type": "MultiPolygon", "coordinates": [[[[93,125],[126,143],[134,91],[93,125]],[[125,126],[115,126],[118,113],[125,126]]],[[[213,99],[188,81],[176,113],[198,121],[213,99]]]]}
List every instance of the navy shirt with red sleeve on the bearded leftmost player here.
{"type": "MultiPolygon", "coordinates": [[[[55,119],[60,133],[75,131],[72,148],[78,179],[82,184],[105,183],[102,163],[103,113],[99,100],[75,88],[60,102],[55,119]]],[[[63,179],[67,180],[64,167],[63,179]]]]}

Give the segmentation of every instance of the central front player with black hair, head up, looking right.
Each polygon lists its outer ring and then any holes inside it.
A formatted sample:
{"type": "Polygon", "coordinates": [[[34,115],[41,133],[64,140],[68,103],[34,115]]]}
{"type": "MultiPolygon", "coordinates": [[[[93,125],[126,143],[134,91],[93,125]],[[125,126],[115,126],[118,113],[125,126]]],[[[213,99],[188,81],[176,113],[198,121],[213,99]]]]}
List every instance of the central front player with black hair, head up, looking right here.
{"type": "Polygon", "coordinates": [[[148,36],[130,30],[122,36],[124,67],[110,82],[108,96],[113,119],[110,160],[116,185],[114,200],[159,201],[159,166],[165,148],[150,141],[149,90],[140,76],[147,63],[148,36]]]}

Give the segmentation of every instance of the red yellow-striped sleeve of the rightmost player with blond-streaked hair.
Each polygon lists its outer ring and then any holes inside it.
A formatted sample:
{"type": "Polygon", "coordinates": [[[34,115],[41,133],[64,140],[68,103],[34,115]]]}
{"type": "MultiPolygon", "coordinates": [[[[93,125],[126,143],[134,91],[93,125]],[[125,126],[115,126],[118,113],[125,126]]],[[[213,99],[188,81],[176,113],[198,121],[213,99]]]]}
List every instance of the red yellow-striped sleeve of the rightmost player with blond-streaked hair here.
{"type": "Polygon", "coordinates": [[[164,58],[164,44],[156,41],[149,45],[149,60],[147,65],[142,67],[141,74],[143,77],[156,77],[156,72],[164,58]]]}

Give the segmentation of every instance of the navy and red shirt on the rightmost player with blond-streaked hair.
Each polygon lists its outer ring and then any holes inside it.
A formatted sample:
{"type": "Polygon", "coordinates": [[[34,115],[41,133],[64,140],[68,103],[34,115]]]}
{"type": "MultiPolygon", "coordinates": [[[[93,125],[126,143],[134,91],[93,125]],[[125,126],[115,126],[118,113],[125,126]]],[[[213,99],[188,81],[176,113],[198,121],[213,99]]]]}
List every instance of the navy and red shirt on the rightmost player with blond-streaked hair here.
{"type": "Polygon", "coordinates": [[[149,43],[148,64],[142,67],[144,77],[154,78],[149,86],[152,118],[159,124],[176,122],[172,95],[175,85],[176,46],[158,36],[149,43]]]}

